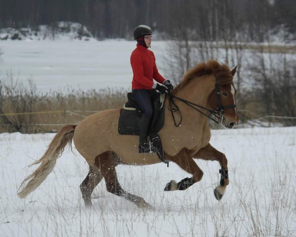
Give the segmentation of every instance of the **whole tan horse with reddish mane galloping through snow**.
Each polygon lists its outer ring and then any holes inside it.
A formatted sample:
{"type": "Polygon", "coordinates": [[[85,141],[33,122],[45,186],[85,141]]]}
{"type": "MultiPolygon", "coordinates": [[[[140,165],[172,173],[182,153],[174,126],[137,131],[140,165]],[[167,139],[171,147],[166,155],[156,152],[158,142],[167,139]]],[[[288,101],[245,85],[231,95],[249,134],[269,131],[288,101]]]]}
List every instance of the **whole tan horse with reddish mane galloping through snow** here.
{"type": "MultiPolygon", "coordinates": [[[[220,65],[214,60],[201,63],[184,75],[172,95],[213,111],[218,110],[217,105],[222,106],[224,110],[220,108],[220,118],[228,128],[233,128],[238,124],[233,84],[235,71],[236,68],[230,71],[227,65],[220,65]]],[[[208,118],[180,100],[174,100],[183,117],[181,126],[175,126],[166,100],[164,126],[158,134],[166,158],[192,174],[192,177],[178,183],[171,180],[165,191],[185,190],[202,179],[203,172],[193,158],[218,161],[221,180],[214,193],[220,200],[229,184],[226,156],[209,143],[211,133],[208,118]]],[[[207,110],[200,110],[208,113],[207,110]]],[[[138,136],[118,133],[119,115],[120,109],[110,109],[95,113],[78,125],[65,125],[55,135],[42,158],[33,163],[41,165],[21,183],[18,195],[24,198],[45,180],[67,143],[71,145],[73,139],[76,149],[89,164],[89,174],[80,185],[86,206],[91,206],[91,193],[103,177],[108,192],[122,196],[137,206],[150,206],[143,198],[121,188],[115,166],[149,165],[160,163],[160,160],[157,155],[138,153],[138,136]]]]}

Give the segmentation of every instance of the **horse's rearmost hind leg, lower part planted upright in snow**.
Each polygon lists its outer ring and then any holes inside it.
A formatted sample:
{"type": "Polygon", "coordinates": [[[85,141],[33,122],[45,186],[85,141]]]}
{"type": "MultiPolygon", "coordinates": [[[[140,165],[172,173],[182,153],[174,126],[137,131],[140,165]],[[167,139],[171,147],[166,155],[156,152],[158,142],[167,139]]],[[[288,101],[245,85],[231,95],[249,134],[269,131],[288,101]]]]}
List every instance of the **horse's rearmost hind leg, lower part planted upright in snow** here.
{"type": "Polygon", "coordinates": [[[87,207],[91,206],[91,193],[102,178],[103,176],[97,167],[89,166],[89,174],[80,185],[82,198],[87,207]]]}

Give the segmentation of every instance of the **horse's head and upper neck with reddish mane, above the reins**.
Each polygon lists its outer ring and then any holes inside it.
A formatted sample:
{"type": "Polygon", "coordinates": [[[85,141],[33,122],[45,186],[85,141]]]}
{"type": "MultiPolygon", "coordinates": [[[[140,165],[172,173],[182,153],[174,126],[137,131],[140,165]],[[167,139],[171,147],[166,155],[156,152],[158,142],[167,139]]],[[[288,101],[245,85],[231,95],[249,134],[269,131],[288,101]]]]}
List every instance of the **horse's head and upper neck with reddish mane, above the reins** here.
{"type": "Polygon", "coordinates": [[[235,104],[236,89],[233,84],[236,69],[237,67],[230,70],[226,64],[221,65],[216,60],[197,64],[184,75],[172,94],[177,95],[180,92],[183,98],[197,104],[201,101],[194,100],[196,95],[207,96],[207,106],[218,114],[226,127],[234,128],[239,122],[235,104]]]}

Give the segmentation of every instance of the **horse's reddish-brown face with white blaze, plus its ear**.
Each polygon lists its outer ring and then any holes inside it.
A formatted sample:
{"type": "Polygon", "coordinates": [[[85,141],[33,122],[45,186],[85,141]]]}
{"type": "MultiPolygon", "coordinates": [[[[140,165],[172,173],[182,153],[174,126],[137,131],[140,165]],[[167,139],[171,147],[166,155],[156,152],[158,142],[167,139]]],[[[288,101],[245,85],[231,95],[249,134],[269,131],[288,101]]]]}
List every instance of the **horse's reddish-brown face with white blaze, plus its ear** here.
{"type": "MultiPolygon", "coordinates": [[[[232,77],[234,76],[236,69],[237,67],[231,70],[232,77]]],[[[220,84],[218,81],[208,100],[212,110],[218,112],[218,116],[221,117],[227,128],[234,128],[239,123],[235,104],[236,93],[237,91],[233,82],[220,84]]]]}

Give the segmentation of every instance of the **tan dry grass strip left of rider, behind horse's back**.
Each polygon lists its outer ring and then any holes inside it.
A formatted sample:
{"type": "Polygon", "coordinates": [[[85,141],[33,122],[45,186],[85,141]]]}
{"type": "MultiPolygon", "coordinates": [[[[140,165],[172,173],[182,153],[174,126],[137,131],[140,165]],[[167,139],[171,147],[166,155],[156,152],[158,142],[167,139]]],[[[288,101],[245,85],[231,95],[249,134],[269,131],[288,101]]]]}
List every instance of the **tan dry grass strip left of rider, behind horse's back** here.
{"type": "Polygon", "coordinates": [[[15,132],[19,127],[13,124],[20,125],[19,130],[24,133],[56,131],[63,124],[77,124],[96,111],[122,108],[127,93],[120,88],[86,92],[67,88],[64,92],[34,92],[33,95],[24,91],[17,95],[18,98],[4,95],[2,111],[8,121],[0,116],[0,132],[15,132]],[[25,108],[24,104],[30,104],[30,108],[25,108]]]}

